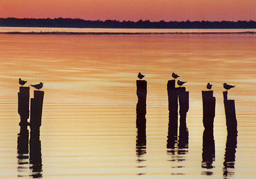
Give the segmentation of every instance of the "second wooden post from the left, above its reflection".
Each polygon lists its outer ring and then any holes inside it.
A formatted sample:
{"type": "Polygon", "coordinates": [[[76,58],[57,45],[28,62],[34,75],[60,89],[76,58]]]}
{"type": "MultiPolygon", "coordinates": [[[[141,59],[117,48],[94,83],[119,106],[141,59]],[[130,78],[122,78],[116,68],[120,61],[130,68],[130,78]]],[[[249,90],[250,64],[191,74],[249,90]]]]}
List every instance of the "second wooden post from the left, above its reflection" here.
{"type": "Polygon", "coordinates": [[[31,98],[30,106],[30,128],[39,130],[42,123],[44,91],[34,90],[34,98],[31,98]]]}

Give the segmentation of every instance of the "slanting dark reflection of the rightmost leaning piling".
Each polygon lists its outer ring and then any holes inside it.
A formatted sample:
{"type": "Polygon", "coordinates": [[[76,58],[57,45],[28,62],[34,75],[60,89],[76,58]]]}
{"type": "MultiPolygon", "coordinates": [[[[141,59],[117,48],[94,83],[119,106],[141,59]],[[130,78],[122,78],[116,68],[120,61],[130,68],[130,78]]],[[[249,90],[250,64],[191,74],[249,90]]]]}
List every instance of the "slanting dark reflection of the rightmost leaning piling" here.
{"type": "Polygon", "coordinates": [[[226,149],[225,149],[225,157],[223,163],[223,176],[232,176],[234,172],[232,168],[234,168],[235,158],[236,158],[236,148],[237,148],[237,133],[229,134],[226,138],[226,149]]]}

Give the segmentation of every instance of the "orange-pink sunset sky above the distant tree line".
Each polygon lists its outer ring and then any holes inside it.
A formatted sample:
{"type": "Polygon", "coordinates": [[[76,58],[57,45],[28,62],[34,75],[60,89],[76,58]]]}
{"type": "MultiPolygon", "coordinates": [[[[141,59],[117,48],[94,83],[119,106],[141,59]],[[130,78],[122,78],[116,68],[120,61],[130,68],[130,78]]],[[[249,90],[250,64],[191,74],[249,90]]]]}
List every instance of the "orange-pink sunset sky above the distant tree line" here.
{"type": "Polygon", "coordinates": [[[1,0],[0,18],[256,20],[256,0],[1,0]]]}

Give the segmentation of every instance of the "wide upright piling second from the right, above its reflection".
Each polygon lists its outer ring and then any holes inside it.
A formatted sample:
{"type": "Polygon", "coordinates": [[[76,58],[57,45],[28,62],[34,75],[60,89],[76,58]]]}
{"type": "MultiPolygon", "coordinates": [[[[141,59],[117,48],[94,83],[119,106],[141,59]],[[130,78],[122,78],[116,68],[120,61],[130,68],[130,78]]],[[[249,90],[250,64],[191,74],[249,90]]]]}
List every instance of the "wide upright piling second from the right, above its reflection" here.
{"type": "Polygon", "coordinates": [[[213,130],[215,117],[216,98],[213,91],[202,91],[203,97],[203,124],[205,130],[213,130]]]}

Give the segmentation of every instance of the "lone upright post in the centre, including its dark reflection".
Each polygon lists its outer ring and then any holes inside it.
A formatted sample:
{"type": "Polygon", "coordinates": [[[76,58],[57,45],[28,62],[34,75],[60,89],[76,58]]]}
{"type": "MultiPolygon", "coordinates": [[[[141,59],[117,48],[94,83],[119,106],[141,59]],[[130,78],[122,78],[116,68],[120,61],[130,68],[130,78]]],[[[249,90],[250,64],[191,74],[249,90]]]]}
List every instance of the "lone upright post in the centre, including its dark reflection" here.
{"type": "Polygon", "coordinates": [[[137,80],[138,103],[136,107],[136,153],[140,157],[146,153],[146,98],[147,98],[147,81],[137,80]]]}

